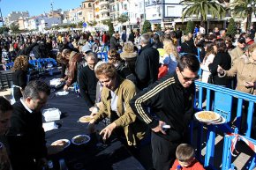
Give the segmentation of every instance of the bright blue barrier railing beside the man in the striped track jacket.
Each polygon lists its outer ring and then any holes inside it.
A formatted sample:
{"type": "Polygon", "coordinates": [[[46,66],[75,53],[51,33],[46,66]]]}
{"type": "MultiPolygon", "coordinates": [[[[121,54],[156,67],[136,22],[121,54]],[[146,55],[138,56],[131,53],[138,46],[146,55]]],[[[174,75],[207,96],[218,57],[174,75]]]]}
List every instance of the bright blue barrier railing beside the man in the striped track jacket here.
{"type": "MultiPolygon", "coordinates": [[[[256,102],[256,96],[248,94],[245,92],[237,92],[219,85],[211,85],[196,81],[198,92],[196,95],[195,107],[199,110],[203,109],[203,95],[206,95],[206,107],[205,110],[213,110],[215,113],[222,115],[226,119],[226,123],[219,125],[205,125],[207,126],[207,146],[206,155],[203,159],[201,155],[201,144],[203,140],[203,124],[198,125],[198,137],[197,137],[197,157],[201,162],[204,162],[204,166],[210,169],[220,169],[214,164],[215,159],[215,136],[216,129],[221,131],[224,135],[232,134],[231,136],[224,137],[223,152],[222,152],[222,170],[233,169],[234,165],[231,164],[231,140],[234,137],[241,136],[244,137],[241,129],[242,115],[245,114],[246,117],[246,130],[245,138],[256,144],[256,141],[252,139],[252,115],[254,109],[254,103],[256,102]],[[206,93],[204,93],[206,91],[206,93]],[[236,101],[237,100],[237,101],[236,101]],[[237,104],[234,104],[237,103],[237,104]],[[243,113],[243,104],[248,103],[248,111],[243,113]],[[236,106],[235,106],[236,105],[236,106]],[[231,124],[232,119],[236,117],[236,123],[231,124]],[[232,128],[231,128],[232,127],[232,128]]],[[[246,110],[246,109],[245,109],[246,110]]],[[[193,129],[192,123],[192,129],[193,129]]],[[[193,133],[193,131],[192,131],[193,133]]],[[[220,155],[218,155],[219,157],[220,155]]],[[[255,166],[256,155],[252,157],[252,161],[248,166],[248,169],[252,169],[255,166]]]]}

